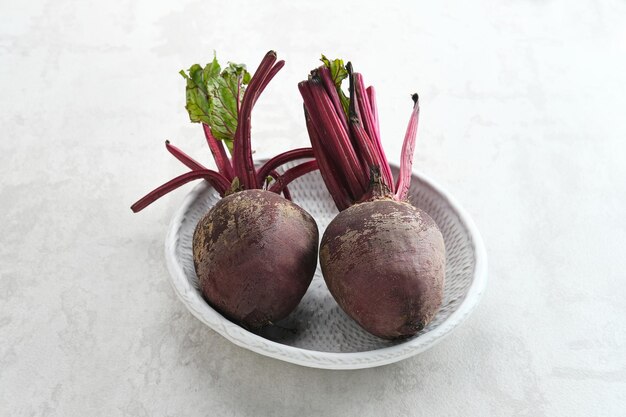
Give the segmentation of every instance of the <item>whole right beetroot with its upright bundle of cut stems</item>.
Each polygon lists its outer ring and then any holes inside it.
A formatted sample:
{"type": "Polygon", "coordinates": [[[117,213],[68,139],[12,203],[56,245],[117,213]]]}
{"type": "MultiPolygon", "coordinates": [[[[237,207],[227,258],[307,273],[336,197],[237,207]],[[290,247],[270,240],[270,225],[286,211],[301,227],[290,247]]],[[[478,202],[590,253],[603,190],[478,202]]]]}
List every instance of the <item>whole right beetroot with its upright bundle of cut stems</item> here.
{"type": "Polygon", "coordinates": [[[402,148],[398,181],[380,143],[373,87],[348,63],[330,61],[299,84],[313,153],[341,211],[322,237],[324,280],[341,308],[385,339],[415,335],[443,298],[445,246],[424,211],[406,202],[419,104],[402,148]],[[350,81],[346,96],[341,83],[350,81]]]}

